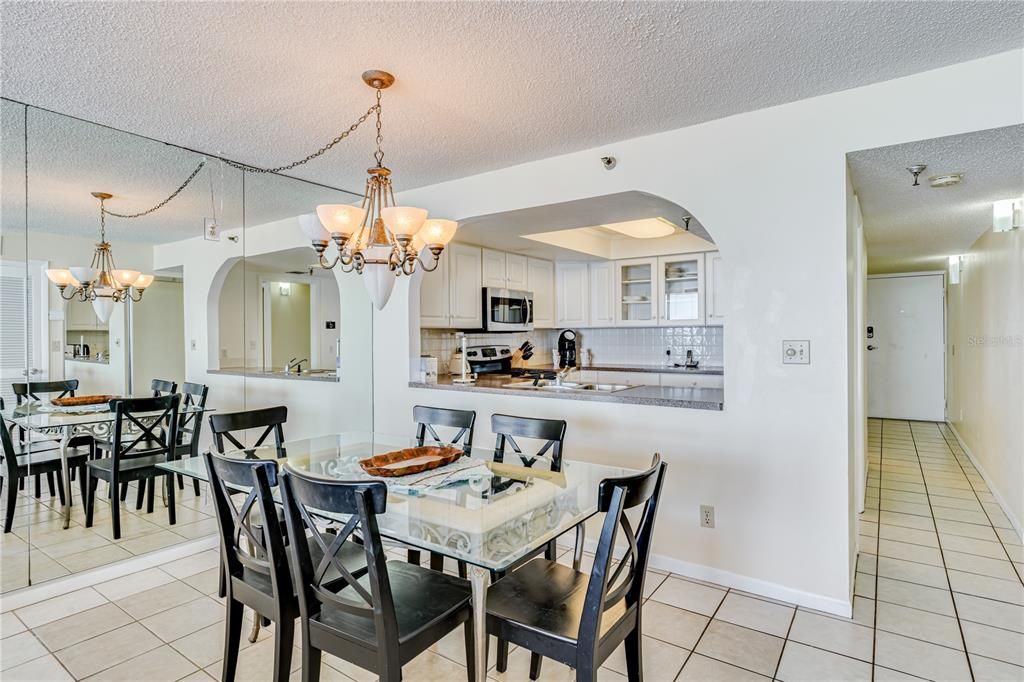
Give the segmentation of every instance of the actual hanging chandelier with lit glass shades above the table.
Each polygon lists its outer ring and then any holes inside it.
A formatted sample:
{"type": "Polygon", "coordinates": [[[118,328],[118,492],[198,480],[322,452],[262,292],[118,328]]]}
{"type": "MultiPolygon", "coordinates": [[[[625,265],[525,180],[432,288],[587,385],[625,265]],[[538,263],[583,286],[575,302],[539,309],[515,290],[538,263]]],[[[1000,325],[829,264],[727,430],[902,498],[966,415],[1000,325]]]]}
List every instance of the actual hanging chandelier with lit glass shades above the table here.
{"type": "MultiPolygon", "coordinates": [[[[362,81],[377,91],[377,104],[367,116],[376,113],[377,148],[374,165],[367,170],[367,186],[358,206],[322,204],[316,213],[299,217],[302,231],[312,242],[321,267],[338,266],[343,272],[355,271],[366,278],[364,284],[374,306],[381,310],[391,297],[395,280],[412,275],[417,268],[437,269],[444,247],[452,241],[458,223],[454,220],[427,219],[427,210],[396,206],[391,184],[391,170],[384,166],[381,148],[381,92],[394,83],[394,76],[383,71],[368,71],[362,81]],[[337,253],[326,255],[334,242],[337,253]],[[424,252],[430,257],[424,261],[424,252]]],[[[349,128],[354,130],[367,116],[349,128]]],[[[347,134],[347,133],[346,133],[347,134]]],[[[340,141],[340,139],[336,140],[340,141]]]]}

